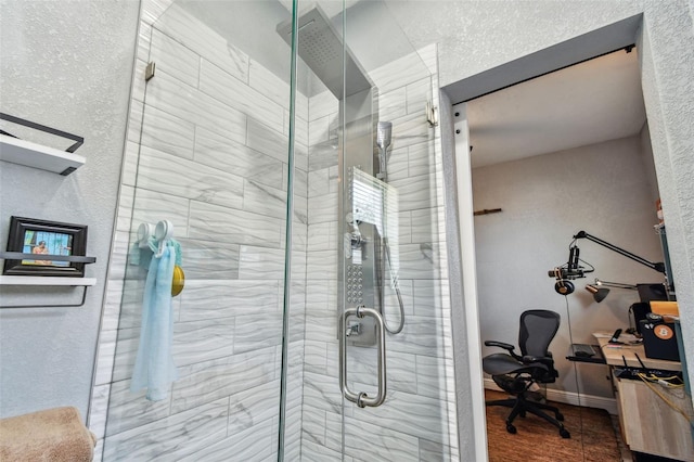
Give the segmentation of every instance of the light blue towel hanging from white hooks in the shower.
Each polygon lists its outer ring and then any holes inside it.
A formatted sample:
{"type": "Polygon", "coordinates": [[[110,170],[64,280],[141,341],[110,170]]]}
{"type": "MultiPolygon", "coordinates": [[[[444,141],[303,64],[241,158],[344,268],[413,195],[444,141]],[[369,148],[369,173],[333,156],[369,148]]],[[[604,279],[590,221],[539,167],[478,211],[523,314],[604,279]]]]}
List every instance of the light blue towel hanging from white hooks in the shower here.
{"type": "Polygon", "coordinates": [[[160,257],[152,256],[144,285],[140,346],[130,390],[138,392],[146,388],[146,398],[150,401],[166,399],[171,382],[178,378],[171,352],[174,344],[171,281],[176,259],[176,245],[169,241],[165,244],[160,257]]]}

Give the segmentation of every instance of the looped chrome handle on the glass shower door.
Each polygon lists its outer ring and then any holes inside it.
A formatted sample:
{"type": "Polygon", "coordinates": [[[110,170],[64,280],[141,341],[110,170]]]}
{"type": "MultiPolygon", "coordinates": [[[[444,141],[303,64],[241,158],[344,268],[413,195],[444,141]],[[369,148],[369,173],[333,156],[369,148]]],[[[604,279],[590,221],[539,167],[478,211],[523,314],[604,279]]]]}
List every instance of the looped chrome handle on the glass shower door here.
{"type": "Polygon", "coordinates": [[[339,317],[339,388],[345,398],[356,402],[360,408],[367,406],[376,407],[383,405],[386,399],[386,333],[383,317],[373,308],[357,307],[348,308],[339,317]],[[355,393],[347,385],[347,318],[356,316],[363,318],[369,316],[376,320],[376,346],[378,350],[378,394],[369,397],[367,393],[355,393]]]}

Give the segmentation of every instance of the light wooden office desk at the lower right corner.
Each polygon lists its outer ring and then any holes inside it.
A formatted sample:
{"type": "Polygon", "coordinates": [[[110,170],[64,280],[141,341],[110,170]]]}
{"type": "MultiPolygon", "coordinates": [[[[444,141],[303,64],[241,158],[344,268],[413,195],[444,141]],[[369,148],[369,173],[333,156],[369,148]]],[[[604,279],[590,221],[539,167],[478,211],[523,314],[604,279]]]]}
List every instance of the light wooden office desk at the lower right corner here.
{"type": "MultiPolygon", "coordinates": [[[[608,344],[612,333],[599,332],[593,337],[597,341],[607,365],[612,370],[612,380],[619,411],[619,424],[625,442],[632,451],[661,455],[681,461],[694,461],[694,442],[686,419],[668,406],[647,384],[640,380],[619,378],[615,370],[627,365],[634,368],[681,371],[678,361],[646,358],[643,345],[630,345],[634,339],[624,335],[619,339],[626,345],[608,344]],[[639,362],[639,359],[643,365],[639,362]],[[624,358],[622,358],[624,357],[624,358]]],[[[692,415],[692,400],[684,394],[684,388],[666,389],[660,385],[658,390],[680,409],[692,415]]]]}

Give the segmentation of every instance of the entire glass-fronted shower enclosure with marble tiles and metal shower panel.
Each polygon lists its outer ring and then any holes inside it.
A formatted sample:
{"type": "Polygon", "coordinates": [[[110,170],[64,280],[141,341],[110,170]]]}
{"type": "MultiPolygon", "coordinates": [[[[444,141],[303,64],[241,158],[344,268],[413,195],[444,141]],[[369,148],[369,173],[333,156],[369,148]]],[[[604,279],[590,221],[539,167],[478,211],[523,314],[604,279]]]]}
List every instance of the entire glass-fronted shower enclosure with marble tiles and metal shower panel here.
{"type": "Polygon", "coordinates": [[[381,1],[143,0],[139,34],[97,460],[458,460],[436,48],[381,1]],[[185,285],[150,401],[160,220],[185,285]]]}

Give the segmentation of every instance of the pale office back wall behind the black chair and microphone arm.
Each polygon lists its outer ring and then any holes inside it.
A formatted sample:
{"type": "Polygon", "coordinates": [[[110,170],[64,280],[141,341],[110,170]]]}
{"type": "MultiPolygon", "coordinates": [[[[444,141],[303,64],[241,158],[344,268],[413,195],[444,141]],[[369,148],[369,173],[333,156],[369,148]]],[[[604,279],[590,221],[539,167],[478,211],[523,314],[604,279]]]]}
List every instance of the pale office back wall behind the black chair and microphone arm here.
{"type": "MultiPolygon", "coordinates": [[[[583,287],[593,278],[661,283],[661,274],[588,240],[577,245],[595,271],[574,281],[574,294],[558,295],[548,271],[566,262],[571,236],[580,230],[663,261],[647,177],[639,137],[474,169],[475,209],[503,209],[475,217],[483,341],[515,345],[523,311],[556,311],[562,325],[551,349],[560,378],[550,387],[612,398],[605,371],[579,365],[577,383],[565,351],[571,339],[594,343],[592,332],[627,329],[629,306],[639,296],[613,290],[596,304],[583,287]]],[[[499,349],[483,347],[483,356],[492,352],[499,349]]]]}

